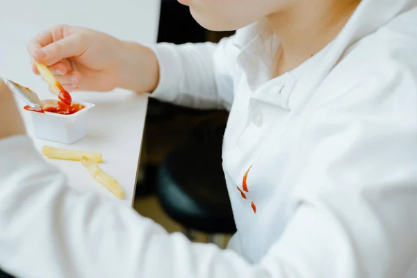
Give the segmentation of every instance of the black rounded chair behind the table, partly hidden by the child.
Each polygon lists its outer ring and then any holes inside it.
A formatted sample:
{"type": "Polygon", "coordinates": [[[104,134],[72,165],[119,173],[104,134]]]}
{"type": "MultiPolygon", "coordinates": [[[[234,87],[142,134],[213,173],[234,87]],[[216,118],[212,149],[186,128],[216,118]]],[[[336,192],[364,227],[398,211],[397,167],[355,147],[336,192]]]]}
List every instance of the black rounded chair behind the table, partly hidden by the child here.
{"type": "Polygon", "coordinates": [[[207,234],[208,241],[236,231],[222,170],[224,127],[199,127],[158,169],[161,206],[184,227],[190,240],[194,240],[193,231],[207,234]]]}

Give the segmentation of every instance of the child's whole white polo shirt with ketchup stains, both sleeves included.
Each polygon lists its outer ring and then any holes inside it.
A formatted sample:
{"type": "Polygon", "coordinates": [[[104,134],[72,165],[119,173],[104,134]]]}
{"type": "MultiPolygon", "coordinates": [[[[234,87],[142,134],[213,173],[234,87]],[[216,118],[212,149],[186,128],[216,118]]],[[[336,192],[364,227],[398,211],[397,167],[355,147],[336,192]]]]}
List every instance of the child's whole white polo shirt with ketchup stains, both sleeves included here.
{"type": "Polygon", "coordinates": [[[0,268],[18,277],[417,277],[417,1],[362,0],[319,54],[270,79],[262,22],[154,47],[153,97],[230,110],[233,249],[79,195],[25,136],[0,141],[0,268]]]}

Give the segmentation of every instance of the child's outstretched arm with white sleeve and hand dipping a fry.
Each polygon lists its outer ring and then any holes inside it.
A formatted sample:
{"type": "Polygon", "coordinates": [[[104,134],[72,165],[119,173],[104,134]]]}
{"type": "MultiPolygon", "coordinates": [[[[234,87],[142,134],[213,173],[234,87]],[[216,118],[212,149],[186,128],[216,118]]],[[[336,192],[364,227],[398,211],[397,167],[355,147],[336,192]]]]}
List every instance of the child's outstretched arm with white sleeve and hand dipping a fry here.
{"type": "MultiPolygon", "coordinates": [[[[28,42],[31,58],[48,65],[66,90],[120,87],[195,108],[231,106],[231,48],[229,39],[218,46],[164,43],[149,48],[67,25],[54,26],[28,42]]],[[[35,67],[33,72],[39,73],[35,67]]]]}

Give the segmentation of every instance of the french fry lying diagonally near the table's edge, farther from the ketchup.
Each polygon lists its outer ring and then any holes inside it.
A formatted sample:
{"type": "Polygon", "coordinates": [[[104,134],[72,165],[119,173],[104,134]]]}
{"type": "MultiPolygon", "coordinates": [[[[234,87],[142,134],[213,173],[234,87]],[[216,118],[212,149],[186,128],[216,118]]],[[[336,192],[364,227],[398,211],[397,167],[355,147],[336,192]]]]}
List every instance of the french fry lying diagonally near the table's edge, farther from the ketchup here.
{"type": "Polygon", "coordinates": [[[113,193],[113,195],[115,195],[117,198],[123,198],[124,192],[120,183],[106,174],[103,170],[101,170],[97,163],[85,156],[81,157],[81,163],[96,181],[107,188],[107,190],[113,193]]]}

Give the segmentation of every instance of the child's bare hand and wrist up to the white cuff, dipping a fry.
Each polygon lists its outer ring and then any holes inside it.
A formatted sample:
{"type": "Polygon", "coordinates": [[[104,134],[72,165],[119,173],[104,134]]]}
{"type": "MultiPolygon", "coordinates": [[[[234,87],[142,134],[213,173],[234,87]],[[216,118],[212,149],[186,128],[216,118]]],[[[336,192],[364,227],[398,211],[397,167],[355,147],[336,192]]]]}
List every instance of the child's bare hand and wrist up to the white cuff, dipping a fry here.
{"type": "Polygon", "coordinates": [[[147,76],[149,68],[142,71],[142,67],[152,66],[147,65],[147,60],[158,68],[150,49],[88,28],[54,26],[33,38],[28,43],[28,52],[38,62],[48,65],[66,90],[109,91],[122,87],[145,92],[158,82],[155,74],[147,76]]]}

